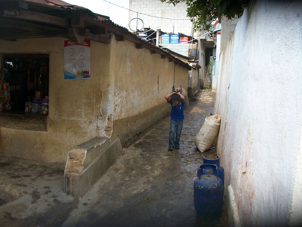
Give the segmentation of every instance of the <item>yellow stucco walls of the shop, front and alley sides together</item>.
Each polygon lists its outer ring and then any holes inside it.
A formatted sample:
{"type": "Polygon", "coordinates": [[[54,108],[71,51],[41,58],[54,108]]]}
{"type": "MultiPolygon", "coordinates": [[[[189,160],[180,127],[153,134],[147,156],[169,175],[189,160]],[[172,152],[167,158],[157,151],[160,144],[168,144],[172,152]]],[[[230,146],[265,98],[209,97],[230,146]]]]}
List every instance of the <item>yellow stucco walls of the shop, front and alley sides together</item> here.
{"type": "Polygon", "coordinates": [[[47,132],[0,126],[0,155],[65,162],[67,152],[94,137],[124,146],[167,116],[165,95],[187,89],[188,69],[130,41],[91,42],[91,79],[64,79],[64,38],[2,41],[0,54],[49,54],[47,132]]]}

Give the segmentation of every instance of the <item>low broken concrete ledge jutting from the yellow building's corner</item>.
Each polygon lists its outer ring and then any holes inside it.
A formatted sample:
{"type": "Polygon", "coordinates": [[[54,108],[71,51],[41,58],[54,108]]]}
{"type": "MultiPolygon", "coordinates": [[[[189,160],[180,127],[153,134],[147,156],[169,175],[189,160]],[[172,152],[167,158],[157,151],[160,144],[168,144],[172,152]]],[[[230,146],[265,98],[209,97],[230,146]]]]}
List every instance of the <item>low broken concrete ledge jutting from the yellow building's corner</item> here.
{"type": "Polygon", "coordinates": [[[82,197],[122,154],[120,140],[95,137],[68,152],[64,192],[82,197]]]}

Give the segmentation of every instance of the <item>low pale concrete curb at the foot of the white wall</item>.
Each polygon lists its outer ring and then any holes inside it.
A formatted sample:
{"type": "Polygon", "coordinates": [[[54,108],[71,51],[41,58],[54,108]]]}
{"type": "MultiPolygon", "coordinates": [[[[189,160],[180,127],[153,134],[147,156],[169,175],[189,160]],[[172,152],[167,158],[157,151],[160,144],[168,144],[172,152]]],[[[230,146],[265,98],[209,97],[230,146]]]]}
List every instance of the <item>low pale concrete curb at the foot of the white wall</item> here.
{"type": "Polygon", "coordinates": [[[227,187],[225,203],[230,227],[241,227],[232,185],[227,187]]]}

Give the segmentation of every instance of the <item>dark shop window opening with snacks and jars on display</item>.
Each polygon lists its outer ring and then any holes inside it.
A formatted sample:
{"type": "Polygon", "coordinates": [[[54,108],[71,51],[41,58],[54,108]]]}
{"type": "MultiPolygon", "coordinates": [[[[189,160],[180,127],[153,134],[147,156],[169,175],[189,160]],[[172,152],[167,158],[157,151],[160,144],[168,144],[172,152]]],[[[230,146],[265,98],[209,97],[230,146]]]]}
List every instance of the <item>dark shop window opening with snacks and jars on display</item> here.
{"type": "Polygon", "coordinates": [[[48,115],[48,54],[2,56],[0,112],[48,115]]]}

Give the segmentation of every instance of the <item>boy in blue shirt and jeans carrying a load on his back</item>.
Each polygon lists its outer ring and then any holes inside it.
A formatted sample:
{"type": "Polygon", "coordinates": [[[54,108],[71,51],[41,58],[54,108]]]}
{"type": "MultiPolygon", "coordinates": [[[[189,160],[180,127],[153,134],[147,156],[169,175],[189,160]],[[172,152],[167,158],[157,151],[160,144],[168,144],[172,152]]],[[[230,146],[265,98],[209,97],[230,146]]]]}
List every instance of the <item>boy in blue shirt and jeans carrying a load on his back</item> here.
{"type": "Polygon", "coordinates": [[[169,147],[168,150],[179,149],[180,134],[182,133],[182,122],[185,119],[185,97],[180,92],[173,92],[167,94],[165,99],[171,104],[171,121],[170,121],[170,133],[169,133],[169,147]],[[174,135],[176,137],[174,140],[174,135]]]}

